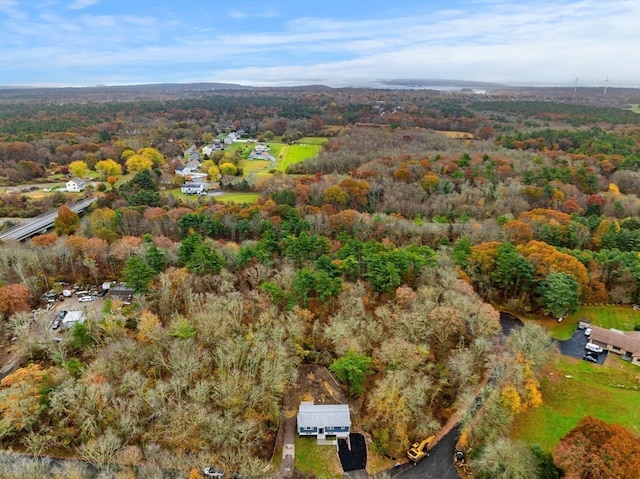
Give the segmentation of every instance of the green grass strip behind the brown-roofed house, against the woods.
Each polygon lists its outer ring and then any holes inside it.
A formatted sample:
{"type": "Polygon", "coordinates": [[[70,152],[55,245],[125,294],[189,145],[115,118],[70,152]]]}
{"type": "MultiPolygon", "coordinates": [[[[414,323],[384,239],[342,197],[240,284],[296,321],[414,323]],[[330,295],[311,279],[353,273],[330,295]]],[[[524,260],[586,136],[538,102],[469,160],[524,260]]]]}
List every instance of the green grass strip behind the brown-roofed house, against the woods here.
{"type": "Polygon", "coordinates": [[[580,306],[577,313],[569,315],[562,323],[548,321],[544,326],[554,338],[569,339],[580,318],[588,319],[591,324],[601,328],[632,331],[636,324],[640,324],[640,311],[635,311],[631,306],[580,306]]]}

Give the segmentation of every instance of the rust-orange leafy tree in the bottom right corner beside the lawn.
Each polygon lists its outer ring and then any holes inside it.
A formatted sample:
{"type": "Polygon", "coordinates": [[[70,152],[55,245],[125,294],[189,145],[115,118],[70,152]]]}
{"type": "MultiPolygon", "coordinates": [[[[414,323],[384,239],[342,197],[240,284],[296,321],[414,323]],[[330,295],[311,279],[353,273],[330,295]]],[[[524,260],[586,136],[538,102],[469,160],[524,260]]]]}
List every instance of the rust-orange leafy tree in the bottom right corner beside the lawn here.
{"type": "Polygon", "coordinates": [[[623,426],[590,416],[582,418],[560,440],[553,450],[553,459],[567,477],[640,478],[638,438],[623,426]]]}

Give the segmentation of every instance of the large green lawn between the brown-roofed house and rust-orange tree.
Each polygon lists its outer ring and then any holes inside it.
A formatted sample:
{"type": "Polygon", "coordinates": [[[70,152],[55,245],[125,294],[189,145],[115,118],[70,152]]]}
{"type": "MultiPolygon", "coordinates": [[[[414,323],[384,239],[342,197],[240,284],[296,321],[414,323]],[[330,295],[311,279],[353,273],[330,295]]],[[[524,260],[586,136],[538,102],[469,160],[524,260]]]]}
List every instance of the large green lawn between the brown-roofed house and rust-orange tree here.
{"type": "Polygon", "coordinates": [[[516,418],[514,438],[550,451],[588,415],[640,435],[640,368],[616,355],[604,366],[558,355],[540,384],[543,404],[516,418]]]}

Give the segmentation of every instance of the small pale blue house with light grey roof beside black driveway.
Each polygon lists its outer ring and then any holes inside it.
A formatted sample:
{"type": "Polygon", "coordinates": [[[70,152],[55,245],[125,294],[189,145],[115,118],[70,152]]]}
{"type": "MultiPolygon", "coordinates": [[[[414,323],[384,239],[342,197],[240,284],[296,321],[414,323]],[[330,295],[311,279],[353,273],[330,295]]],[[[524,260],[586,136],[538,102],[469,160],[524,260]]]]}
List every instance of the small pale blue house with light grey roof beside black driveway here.
{"type": "Polygon", "coordinates": [[[348,438],[351,430],[351,416],[348,404],[314,404],[301,402],[298,409],[298,434],[317,436],[324,440],[326,436],[348,438]]]}

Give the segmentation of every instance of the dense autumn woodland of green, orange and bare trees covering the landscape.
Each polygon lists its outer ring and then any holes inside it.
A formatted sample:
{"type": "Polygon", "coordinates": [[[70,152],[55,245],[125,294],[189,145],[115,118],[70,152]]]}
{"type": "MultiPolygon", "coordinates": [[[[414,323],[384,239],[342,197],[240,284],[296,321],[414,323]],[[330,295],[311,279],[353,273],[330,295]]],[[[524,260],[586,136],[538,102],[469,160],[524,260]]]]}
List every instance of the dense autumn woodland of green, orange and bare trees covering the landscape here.
{"type": "MultiPolygon", "coordinates": [[[[498,341],[497,310],[640,302],[638,118],[426,90],[3,104],[6,186],[80,164],[103,182],[81,218],[62,193],[0,195],[0,216],[59,208],[55,232],[0,244],[2,334],[24,358],[2,380],[0,442],[98,467],[215,461],[264,476],[287,386],[317,362],[344,379],[358,426],[390,456],[469,406],[491,374],[465,420],[467,446],[491,446],[477,458],[490,471],[489,455],[513,447],[500,442],[513,417],[543,400],[551,348],[535,325],[498,341]],[[171,193],[184,149],[240,127],[327,143],[261,183],[255,204],[171,193]],[[105,301],[62,342],[29,334],[44,292],[105,280],[138,301],[105,301]]],[[[224,174],[238,158],[207,160],[224,174]]],[[[517,456],[533,461],[521,477],[554,477],[541,472],[550,456],[517,456]]]]}

